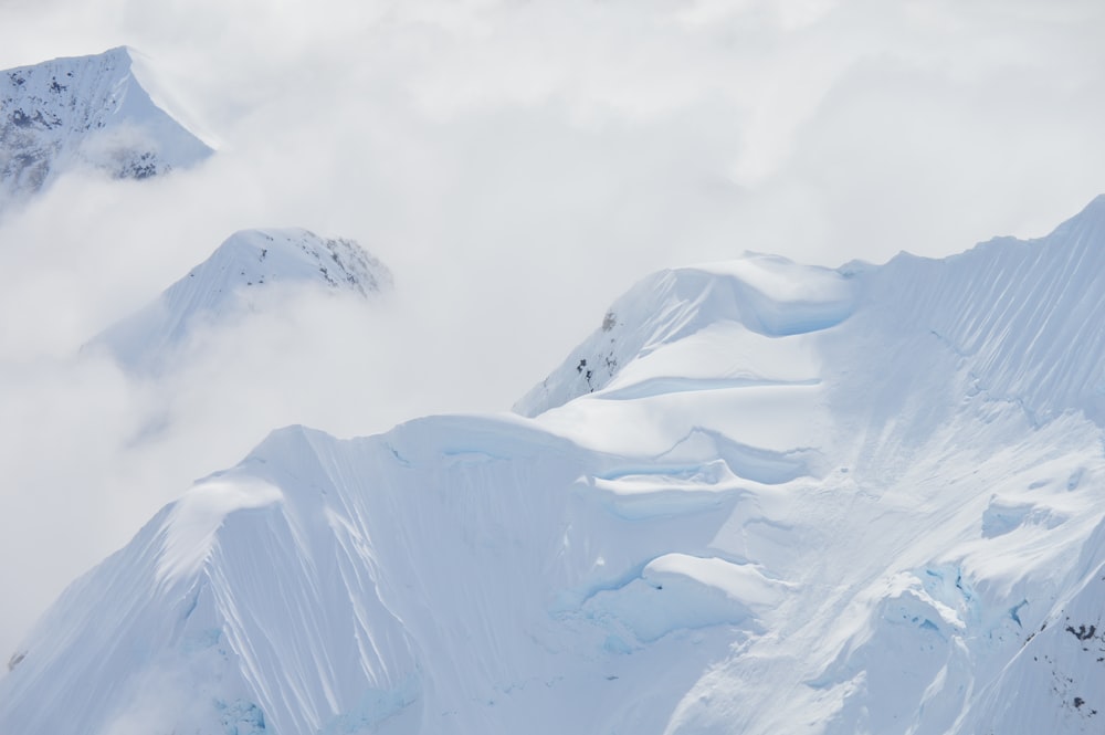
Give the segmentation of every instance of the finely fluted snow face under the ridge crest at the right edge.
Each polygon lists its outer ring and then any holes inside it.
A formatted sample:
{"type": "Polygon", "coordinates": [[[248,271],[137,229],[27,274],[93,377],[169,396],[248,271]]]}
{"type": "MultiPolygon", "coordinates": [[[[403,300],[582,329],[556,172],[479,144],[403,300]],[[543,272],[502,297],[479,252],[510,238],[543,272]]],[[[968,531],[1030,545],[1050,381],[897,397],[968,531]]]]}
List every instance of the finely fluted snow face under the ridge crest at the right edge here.
{"type": "Polygon", "coordinates": [[[1040,240],[999,238],[945,261],[899,255],[871,298],[912,304],[916,326],[961,356],[992,400],[1035,423],[1067,409],[1101,423],[1105,363],[1092,356],[1105,354],[1103,292],[1105,196],[1040,240]]]}

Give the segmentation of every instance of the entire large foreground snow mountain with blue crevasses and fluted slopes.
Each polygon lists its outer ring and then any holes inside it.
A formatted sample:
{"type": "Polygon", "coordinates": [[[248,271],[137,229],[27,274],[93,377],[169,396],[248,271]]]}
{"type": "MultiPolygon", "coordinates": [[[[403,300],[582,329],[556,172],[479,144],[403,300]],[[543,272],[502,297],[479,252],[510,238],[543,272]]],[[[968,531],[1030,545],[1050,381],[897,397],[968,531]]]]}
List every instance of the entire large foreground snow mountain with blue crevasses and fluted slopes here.
{"type": "Polygon", "coordinates": [[[1103,279],[1105,200],[754,255],[631,291],[535,419],[276,431],[71,587],[0,732],[1099,733],[1103,279]]]}

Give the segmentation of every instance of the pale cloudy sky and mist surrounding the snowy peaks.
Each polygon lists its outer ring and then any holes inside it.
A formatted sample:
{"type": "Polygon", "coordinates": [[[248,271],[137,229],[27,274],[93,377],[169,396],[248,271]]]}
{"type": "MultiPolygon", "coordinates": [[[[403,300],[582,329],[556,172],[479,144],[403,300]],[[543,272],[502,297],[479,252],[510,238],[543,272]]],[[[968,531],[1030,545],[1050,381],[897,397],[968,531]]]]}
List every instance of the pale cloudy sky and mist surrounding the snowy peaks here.
{"type": "Polygon", "coordinates": [[[3,0],[0,69],[129,45],[218,149],[0,222],[0,654],[272,428],[506,410],[635,281],[1049,232],[1105,192],[1097,0],[3,0]],[[80,347],[230,233],[387,263],[161,380],[80,347]],[[151,429],[151,427],[154,429],[151,429]]]}

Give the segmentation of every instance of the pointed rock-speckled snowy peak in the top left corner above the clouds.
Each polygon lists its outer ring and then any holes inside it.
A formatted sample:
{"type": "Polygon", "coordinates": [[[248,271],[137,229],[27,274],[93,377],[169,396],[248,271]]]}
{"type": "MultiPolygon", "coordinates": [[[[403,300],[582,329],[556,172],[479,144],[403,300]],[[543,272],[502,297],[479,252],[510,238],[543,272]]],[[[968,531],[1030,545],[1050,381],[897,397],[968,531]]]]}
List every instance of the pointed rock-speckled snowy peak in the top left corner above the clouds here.
{"type": "Polygon", "coordinates": [[[73,166],[141,179],[210,154],[154,103],[129,49],[0,72],[0,208],[73,166]]]}

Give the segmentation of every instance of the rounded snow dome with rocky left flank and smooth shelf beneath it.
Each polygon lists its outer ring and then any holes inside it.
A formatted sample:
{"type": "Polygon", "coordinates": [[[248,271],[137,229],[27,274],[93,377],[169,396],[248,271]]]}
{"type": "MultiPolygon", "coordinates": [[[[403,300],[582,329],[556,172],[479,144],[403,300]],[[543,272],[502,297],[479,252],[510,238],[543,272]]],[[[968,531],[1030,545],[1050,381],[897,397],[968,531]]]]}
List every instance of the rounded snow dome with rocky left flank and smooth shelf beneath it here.
{"type": "Polygon", "coordinates": [[[840,273],[778,256],[664,271],[619,298],[601,329],[515,410],[536,416],[608,386],[611,397],[640,398],[695,390],[702,380],[720,381],[718,388],[808,384],[815,374],[803,368],[802,348],[778,338],[840,323],[854,298],[840,273]],[[618,390],[630,384],[628,392],[618,390]]]}

